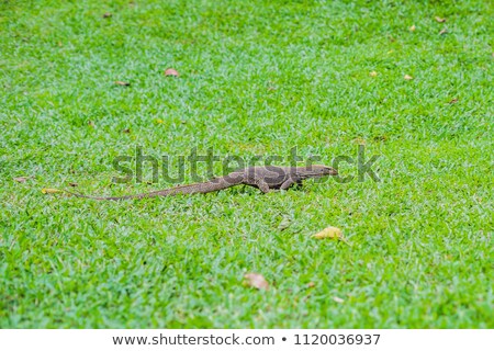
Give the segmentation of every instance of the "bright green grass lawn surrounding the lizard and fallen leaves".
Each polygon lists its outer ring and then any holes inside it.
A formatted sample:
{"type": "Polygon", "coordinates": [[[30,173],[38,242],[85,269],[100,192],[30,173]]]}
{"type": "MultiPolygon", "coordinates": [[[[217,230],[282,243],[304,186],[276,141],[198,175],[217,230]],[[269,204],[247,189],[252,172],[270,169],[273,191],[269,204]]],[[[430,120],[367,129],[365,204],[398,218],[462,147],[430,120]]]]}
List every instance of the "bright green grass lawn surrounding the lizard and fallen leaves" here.
{"type": "Polygon", "coordinates": [[[489,1],[134,2],[0,1],[0,327],[494,328],[489,1]],[[169,186],[110,186],[136,146],[330,165],[363,143],[379,183],[41,192],[169,186]]]}

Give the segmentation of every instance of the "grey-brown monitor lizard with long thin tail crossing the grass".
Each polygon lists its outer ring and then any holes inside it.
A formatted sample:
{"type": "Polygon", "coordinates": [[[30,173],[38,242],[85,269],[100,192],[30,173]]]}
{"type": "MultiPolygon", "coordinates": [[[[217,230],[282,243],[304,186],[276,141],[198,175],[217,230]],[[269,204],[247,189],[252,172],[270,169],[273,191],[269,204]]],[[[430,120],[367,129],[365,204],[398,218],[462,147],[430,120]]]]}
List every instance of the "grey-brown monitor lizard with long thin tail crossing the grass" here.
{"type": "Polygon", "coordinates": [[[255,186],[263,193],[267,193],[276,189],[287,190],[293,184],[302,184],[302,181],[305,179],[336,174],[338,174],[337,170],[322,165],[313,165],[307,167],[256,166],[243,170],[237,170],[225,177],[214,178],[203,183],[180,185],[143,194],[100,197],[81,195],[71,192],[68,193],[78,197],[117,201],[128,199],[172,196],[177,194],[205,194],[240,184],[255,186]]]}

